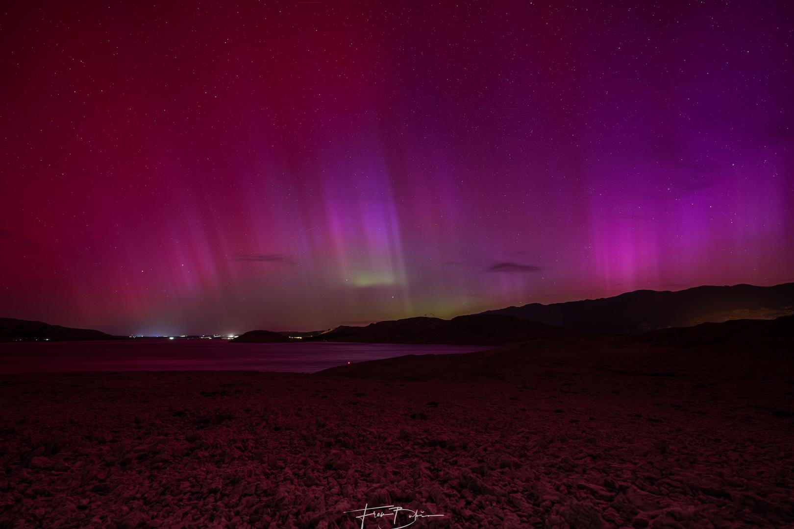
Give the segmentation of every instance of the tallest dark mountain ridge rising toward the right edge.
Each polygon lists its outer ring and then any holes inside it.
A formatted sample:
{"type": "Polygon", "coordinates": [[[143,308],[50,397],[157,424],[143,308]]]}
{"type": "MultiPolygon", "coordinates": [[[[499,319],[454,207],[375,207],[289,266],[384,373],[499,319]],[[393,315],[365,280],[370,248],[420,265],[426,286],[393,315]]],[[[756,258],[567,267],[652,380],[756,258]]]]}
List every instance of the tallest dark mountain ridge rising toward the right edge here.
{"type": "Polygon", "coordinates": [[[696,286],[671,292],[635,290],[615,297],[489,310],[576,332],[639,334],[705,322],[773,319],[794,314],[794,283],[777,286],[696,286]]]}

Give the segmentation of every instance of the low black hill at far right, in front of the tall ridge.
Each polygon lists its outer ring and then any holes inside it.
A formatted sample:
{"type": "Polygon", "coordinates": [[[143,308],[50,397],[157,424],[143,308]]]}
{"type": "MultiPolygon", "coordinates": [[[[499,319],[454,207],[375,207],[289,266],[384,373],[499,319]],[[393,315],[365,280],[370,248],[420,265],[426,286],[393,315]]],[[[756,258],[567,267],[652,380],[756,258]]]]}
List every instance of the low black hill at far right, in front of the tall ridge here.
{"type": "Polygon", "coordinates": [[[774,320],[729,320],[721,324],[705,323],[694,327],[676,327],[646,332],[638,341],[673,347],[700,347],[715,344],[747,343],[757,340],[794,338],[794,316],[774,320]]]}

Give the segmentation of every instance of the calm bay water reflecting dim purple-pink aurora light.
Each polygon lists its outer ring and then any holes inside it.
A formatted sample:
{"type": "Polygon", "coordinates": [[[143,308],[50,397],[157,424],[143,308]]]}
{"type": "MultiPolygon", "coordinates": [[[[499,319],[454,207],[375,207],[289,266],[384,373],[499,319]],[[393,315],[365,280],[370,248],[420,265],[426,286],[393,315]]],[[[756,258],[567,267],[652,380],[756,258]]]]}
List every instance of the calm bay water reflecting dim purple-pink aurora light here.
{"type": "Polygon", "coordinates": [[[314,373],[347,362],[492,347],[395,343],[229,343],[209,339],[0,343],[0,373],[245,370],[314,373]]]}

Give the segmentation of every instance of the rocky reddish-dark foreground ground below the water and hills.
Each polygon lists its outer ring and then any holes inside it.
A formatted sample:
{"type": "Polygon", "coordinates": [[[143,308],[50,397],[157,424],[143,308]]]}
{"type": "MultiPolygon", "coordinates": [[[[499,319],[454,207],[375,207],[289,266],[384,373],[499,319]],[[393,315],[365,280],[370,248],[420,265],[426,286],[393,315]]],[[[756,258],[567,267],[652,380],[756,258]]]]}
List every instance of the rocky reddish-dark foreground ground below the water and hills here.
{"type": "Polygon", "coordinates": [[[3,375],[0,527],[360,527],[364,504],[445,515],[431,529],[791,527],[792,379],[780,347],[610,339],[3,375]]]}

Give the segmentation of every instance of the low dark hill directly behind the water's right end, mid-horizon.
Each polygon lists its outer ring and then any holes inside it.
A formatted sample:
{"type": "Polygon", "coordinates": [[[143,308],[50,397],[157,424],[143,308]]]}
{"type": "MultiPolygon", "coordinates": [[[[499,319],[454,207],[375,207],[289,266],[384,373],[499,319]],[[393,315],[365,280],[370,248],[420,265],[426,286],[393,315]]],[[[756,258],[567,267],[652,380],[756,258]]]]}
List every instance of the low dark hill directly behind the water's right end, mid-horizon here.
{"type": "Polygon", "coordinates": [[[528,339],[568,335],[561,328],[550,327],[513,316],[458,316],[452,320],[417,317],[379,321],[366,327],[340,326],[305,340],[360,343],[449,343],[500,345],[528,339]]]}

